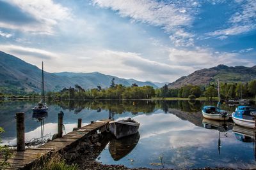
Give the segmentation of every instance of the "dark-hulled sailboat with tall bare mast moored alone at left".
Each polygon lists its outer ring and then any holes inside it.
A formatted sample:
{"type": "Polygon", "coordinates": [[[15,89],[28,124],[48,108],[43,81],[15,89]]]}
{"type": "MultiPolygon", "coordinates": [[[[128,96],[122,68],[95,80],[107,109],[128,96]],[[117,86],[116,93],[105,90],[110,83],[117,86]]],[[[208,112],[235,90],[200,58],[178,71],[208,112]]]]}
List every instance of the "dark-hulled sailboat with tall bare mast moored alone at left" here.
{"type": "Polygon", "coordinates": [[[45,104],[45,94],[44,94],[44,62],[42,62],[42,92],[41,92],[41,101],[35,106],[32,110],[33,113],[47,113],[48,107],[45,104]]]}

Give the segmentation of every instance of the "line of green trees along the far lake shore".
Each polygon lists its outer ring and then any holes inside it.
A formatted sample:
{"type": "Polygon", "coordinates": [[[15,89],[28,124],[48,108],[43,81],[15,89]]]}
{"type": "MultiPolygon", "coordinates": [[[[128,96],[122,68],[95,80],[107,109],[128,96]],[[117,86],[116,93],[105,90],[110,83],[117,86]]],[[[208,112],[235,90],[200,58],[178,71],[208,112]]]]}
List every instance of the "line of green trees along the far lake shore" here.
{"type": "MultiPolygon", "coordinates": [[[[6,88],[0,88],[0,98],[12,94],[6,88]]],[[[36,98],[40,94],[29,92],[24,94],[23,97],[36,98]]],[[[110,82],[108,88],[97,86],[94,89],[83,89],[80,85],[74,87],[64,88],[60,92],[47,92],[49,99],[150,99],[152,97],[179,97],[195,99],[198,97],[212,97],[218,96],[218,85],[212,83],[207,87],[203,85],[184,85],[177,89],[169,89],[168,85],[164,85],[159,89],[154,89],[150,86],[138,87],[136,83],[131,87],[125,87],[121,84],[115,83],[115,78],[110,82]]],[[[220,83],[220,96],[221,99],[244,99],[256,96],[256,80],[246,83],[220,83]]],[[[15,96],[14,96],[15,97],[15,96]]],[[[20,97],[20,96],[18,96],[20,97]]],[[[22,96],[21,96],[22,97],[22,96]]]]}

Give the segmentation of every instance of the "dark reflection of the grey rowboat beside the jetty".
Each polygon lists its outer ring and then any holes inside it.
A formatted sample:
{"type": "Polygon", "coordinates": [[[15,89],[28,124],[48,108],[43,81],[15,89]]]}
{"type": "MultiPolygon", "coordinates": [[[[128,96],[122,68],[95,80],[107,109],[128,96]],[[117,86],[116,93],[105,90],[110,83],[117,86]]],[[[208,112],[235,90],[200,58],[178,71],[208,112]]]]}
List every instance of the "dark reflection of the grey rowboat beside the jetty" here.
{"type": "Polygon", "coordinates": [[[120,160],[128,155],[140,140],[140,133],[132,134],[124,138],[116,139],[114,136],[109,141],[109,153],[114,160],[120,160]]]}

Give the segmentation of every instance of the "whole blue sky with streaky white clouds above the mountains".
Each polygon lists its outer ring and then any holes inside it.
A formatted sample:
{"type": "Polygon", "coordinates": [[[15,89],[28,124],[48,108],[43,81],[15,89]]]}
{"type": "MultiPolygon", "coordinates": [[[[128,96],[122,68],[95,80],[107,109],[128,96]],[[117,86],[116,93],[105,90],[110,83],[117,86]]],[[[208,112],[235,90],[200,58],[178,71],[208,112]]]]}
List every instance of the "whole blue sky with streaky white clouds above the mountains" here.
{"type": "Polygon", "coordinates": [[[256,1],[0,0],[0,50],[51,73],[171,82],[256,65],[256,1]]]}

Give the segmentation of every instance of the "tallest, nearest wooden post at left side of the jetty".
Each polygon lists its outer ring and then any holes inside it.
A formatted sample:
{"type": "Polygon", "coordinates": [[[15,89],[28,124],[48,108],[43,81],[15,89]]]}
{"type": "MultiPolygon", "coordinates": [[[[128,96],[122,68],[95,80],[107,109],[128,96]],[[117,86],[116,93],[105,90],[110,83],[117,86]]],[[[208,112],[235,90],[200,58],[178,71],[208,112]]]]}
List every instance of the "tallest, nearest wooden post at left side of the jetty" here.
{"type": "Polygon", "coordinates": [[[25,150],[24,112],[16,113],[17,152],[25,150]]]}

